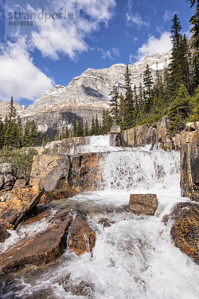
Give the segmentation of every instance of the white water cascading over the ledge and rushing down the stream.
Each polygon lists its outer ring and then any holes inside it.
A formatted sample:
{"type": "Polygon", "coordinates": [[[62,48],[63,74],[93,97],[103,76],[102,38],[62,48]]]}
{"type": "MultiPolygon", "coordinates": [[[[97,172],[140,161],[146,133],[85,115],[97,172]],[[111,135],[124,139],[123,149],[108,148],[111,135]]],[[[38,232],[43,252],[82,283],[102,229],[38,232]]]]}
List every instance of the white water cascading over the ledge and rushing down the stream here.
{"type": "Polygon", "coordinates": [[[78,257],[66,250],[44,273],[33,269],[32,273],[13,279],[10,286],[4,284],[0,298],[198,299],[199,266],[174,247],[171,223],[166,227],[161,222],[173,204],[188,200],[180,196],[180,153],[150,151],[149,147],[113,150],[108,137],[92,137],[90,141],[84,148],[87,152],[104,147],[110,151],[101,165],[103,190],[78,194],[71,200],[89,207],[106,206],[111,211],[107,214],[104,210],[95,211],[88,217],[97,233],[92,255],[78,257]],[[159,203],[156,215],[136,216],[122,210],[132,192],[156,193],[159,203]],[[114,223],[103,228],[99,223],[101,217],[114,223]],[[91,283],[88,296],[66,293],[58,285],[58,279],[67,274],[74,285],[81,281],[91,283]]]}

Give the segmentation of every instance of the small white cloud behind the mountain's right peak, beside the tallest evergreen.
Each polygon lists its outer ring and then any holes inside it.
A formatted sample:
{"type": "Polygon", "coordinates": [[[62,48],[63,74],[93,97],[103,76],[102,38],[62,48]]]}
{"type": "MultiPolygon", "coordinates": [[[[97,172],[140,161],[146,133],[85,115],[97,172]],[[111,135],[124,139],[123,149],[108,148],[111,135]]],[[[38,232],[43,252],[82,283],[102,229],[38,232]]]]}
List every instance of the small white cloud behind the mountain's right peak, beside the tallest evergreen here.
{"type": "MultiPolygon", "coordinates": [[[[163,32],[160,38],[151,35],[146,43],[144,43],[137,51],[136,58],[142,60],[148,54],[162,53],[171,50],[172,43],[170,39],[170,32],[163,32]]],[[[132,60],[133,56],[131,56],[132,60]]]]}

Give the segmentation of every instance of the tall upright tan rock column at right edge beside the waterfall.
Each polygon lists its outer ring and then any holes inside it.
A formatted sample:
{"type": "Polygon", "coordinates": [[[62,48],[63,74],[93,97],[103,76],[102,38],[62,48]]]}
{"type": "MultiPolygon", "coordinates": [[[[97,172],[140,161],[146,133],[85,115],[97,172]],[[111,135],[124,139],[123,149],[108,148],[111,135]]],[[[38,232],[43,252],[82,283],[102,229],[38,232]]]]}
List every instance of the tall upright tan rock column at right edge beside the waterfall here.
{"type": "Polygon", "coordinates": [[[181,190],[182,196],[199,201],[199,130],[182,134],[181,190]]]}

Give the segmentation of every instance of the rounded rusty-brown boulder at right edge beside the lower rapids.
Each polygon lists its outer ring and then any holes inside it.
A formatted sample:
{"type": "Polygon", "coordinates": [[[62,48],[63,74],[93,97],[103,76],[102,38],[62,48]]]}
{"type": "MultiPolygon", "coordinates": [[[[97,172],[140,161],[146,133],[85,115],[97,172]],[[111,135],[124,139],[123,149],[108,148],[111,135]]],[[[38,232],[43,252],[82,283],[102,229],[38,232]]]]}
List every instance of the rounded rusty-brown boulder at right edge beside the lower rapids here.
{"type": "Polygon", "coordinates": [[[174,221],[171,236],[174,244],[189,257],[199,260],[199,206],[196,203],[177,204],[170,218],[174,221]]]}

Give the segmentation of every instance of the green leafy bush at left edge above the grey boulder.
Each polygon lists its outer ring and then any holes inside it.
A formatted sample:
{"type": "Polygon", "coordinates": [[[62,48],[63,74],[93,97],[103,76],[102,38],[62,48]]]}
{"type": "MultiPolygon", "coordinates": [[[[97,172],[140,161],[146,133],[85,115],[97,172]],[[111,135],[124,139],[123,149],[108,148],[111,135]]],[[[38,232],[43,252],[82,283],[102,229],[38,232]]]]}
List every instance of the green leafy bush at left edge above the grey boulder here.
{"type": "Polygon", "coordinates": [[[12,149],[3,147],[0,149],[0,161],[12,165],[16,178],[29,178],[33,156],[36,154],[37,150],[34,148],[12,149]]]}

